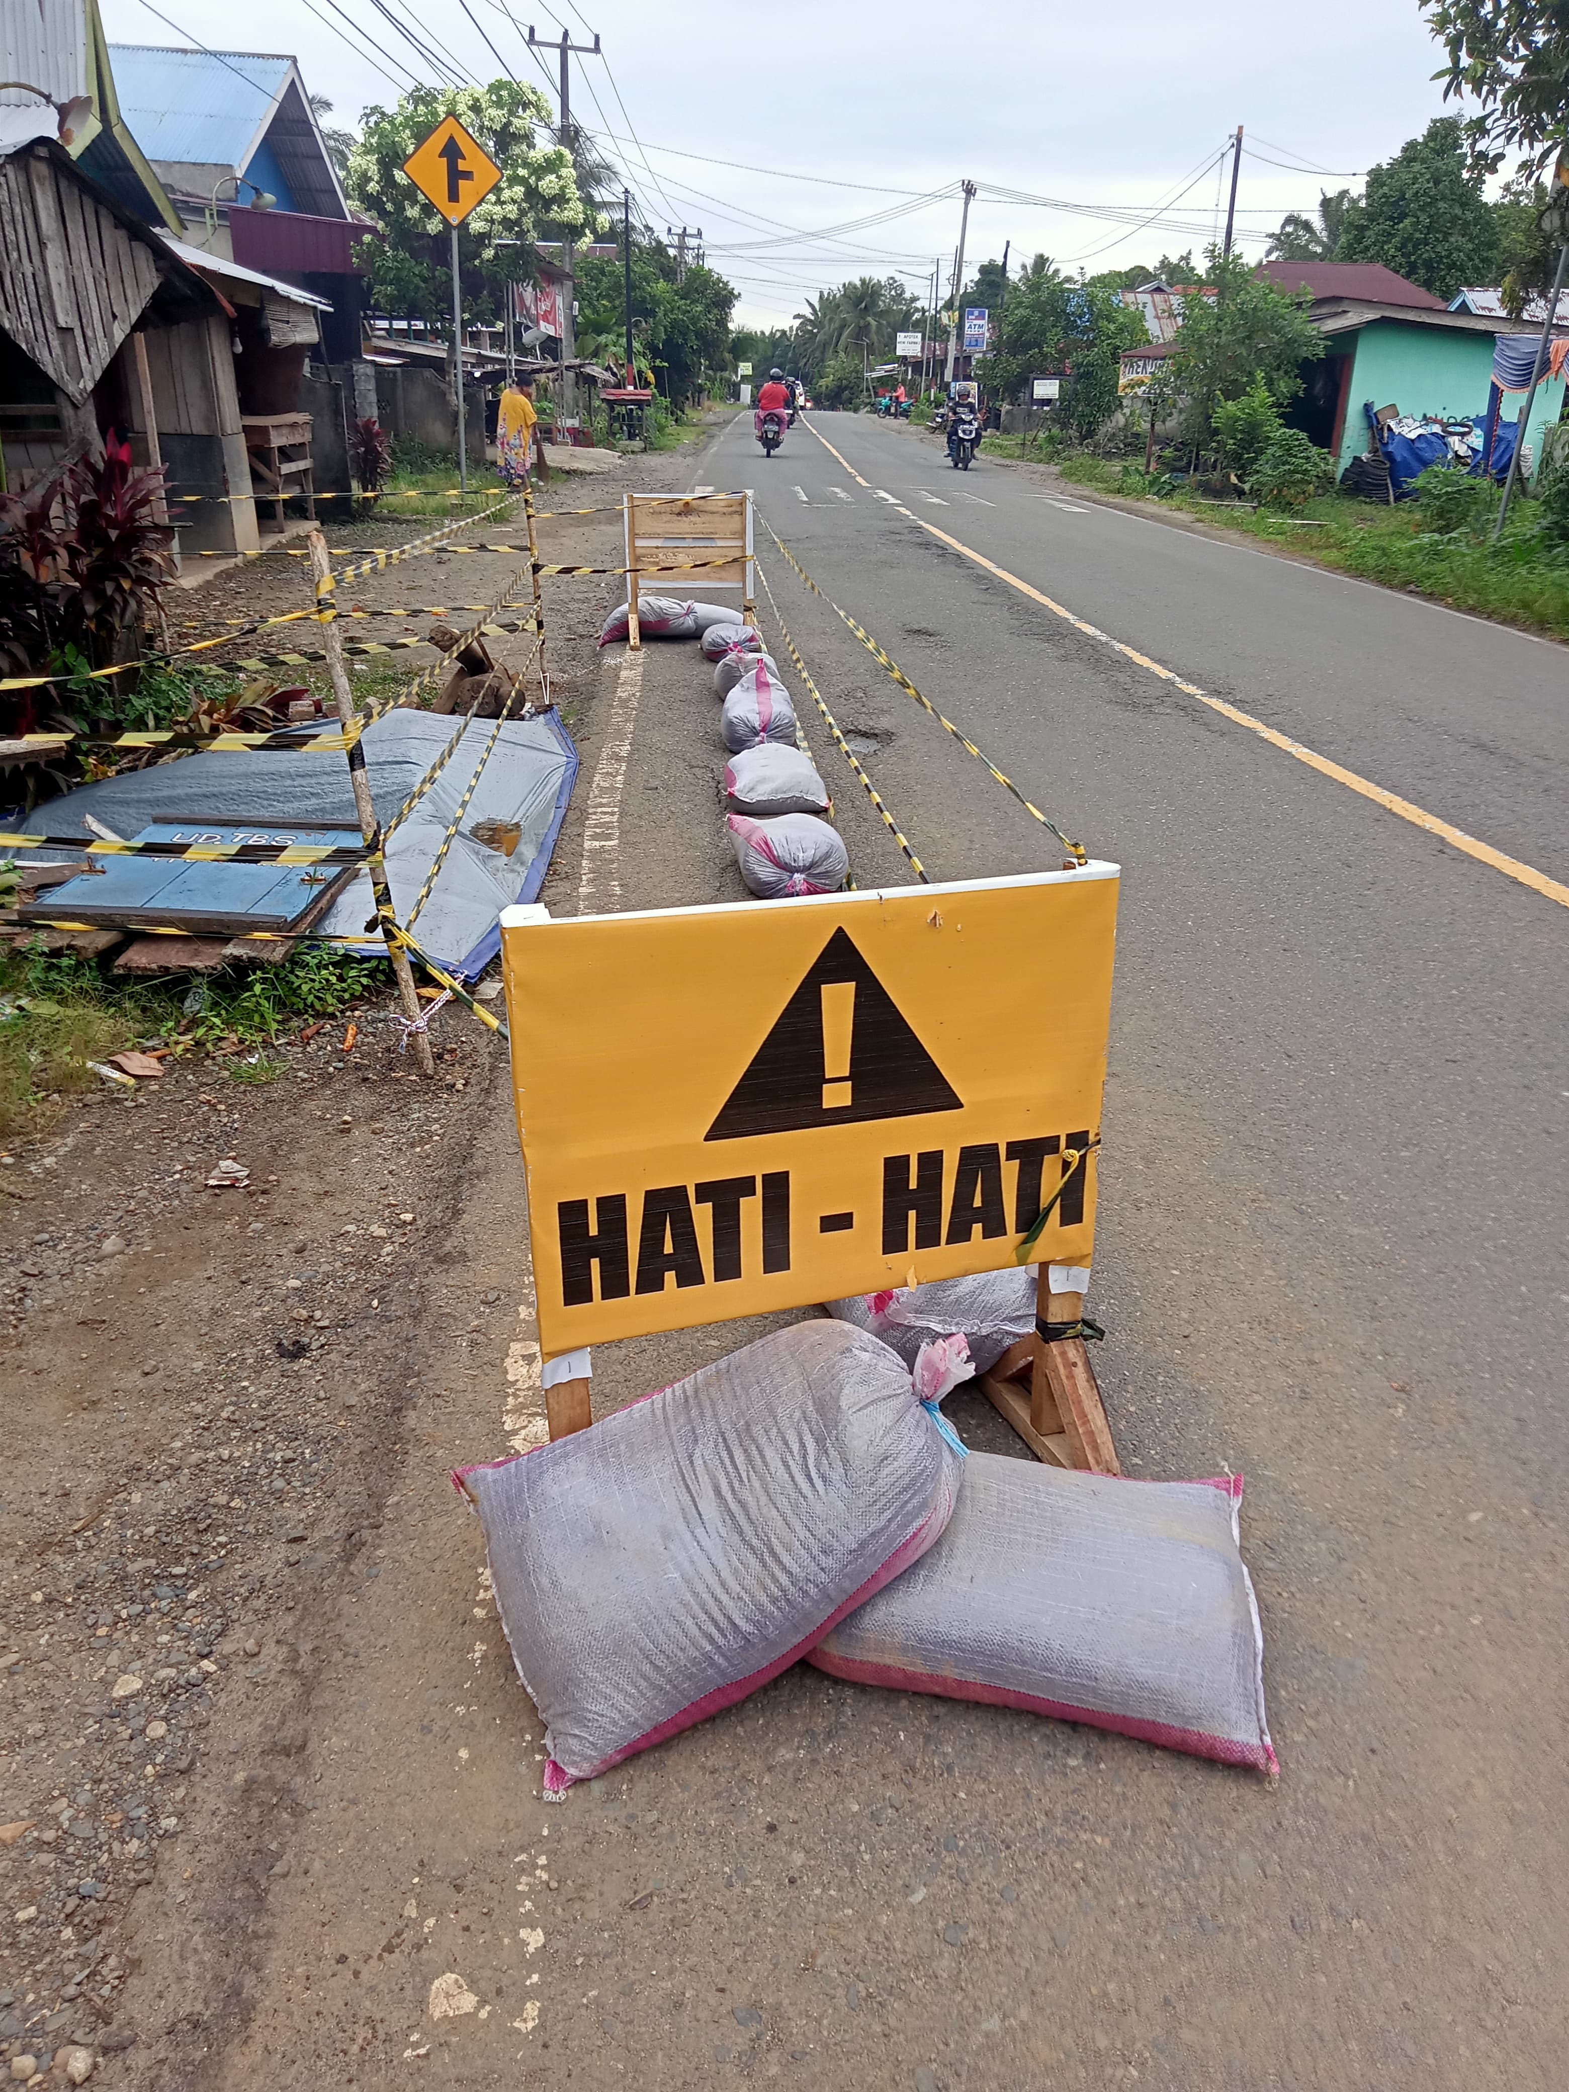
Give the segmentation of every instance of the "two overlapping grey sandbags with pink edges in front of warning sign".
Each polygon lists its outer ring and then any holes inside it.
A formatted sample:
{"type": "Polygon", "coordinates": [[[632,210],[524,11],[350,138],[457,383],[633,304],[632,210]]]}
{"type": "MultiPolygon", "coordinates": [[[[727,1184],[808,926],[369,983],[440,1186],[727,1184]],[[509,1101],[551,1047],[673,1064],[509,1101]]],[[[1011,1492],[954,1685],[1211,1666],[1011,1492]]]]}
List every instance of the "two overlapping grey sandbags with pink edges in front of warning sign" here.
{"type": "Polygon", "coordinates": [[[454,1477],[546,1722],[546,1797],[797,1659],[1274,1772],[1241,1481],[967,1454],[914,1366],[799,1322],[592,1431],[454,1477]]]}

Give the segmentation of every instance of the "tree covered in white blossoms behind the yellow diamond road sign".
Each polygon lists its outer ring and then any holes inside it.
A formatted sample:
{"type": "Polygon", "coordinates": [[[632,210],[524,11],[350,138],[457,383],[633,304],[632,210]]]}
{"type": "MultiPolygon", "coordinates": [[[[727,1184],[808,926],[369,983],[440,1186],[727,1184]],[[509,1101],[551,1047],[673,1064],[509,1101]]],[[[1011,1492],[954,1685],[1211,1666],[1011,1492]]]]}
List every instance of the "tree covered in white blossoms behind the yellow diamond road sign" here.
{"type": "Polygon", "coordinates": [[[360,241],[370,297],[389,312],[427,320],[452,310],[450,238],[441,220],[404,174],[404,161],[441,117],[454,115],[502,169],[502,178],[458,230],[464,318],[494,318],[502,285],[536,266],[536,236],[596,230],[577,192],[571,155],[550,142],[550,109],[536,88],[492,79],[487,88],[416,88],[395,109],[366,109],[349,153],[347,192],[377,232],[360,241]],[[521,247],[500,247],[521,241],[521,247]]]}

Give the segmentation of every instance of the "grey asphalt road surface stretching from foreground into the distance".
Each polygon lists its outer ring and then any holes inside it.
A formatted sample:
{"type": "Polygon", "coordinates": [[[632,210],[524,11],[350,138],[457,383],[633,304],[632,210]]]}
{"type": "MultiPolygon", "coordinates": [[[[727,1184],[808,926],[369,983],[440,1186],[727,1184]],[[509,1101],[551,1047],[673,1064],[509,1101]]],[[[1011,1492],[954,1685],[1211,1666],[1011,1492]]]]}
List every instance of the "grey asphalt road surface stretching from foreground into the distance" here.
{"type": "MultiPolygon", "coordinates": [[[[222,2082],[1556,2092],[1569,910],[1109,640],[1556,879],[1565,655],[1042,473],[960,479],[912,429],[812,429],[764,462],[743,416],[690,483],[755,487],[1123,866],[1096,1366],[1132,1475],[1247,1477],[1280,1780],[797,1667],[546,1807],[441,1483],[538,1433],[527,1299],[504,1389],[500,1358],[460,1372],[410,1328],[408,1475],[314,1684],[310,1816],[222,2082]]],[[[1059,862],[772,548],[764,571],[933,877],[1059,862]]],[[[613,906],[741,900],[707,674],[649,646],[632,715],[600,661],[546,902],[584,904],[590,810],[617,831],[594,906],[611,862],[613,906]]],[[[908,883],[805,718],[858,883],[908,883]]],[[[1006,979],[996,1008],[1031,1021],[1006,979]]],[[[517,1297],[523,1232],[498,1086],[444,1259],[517,1297]]],[[[596,1412],[749,1335],[607,1349],[596,1412]]],[[[983,1404],[948,1408],[998,1443],[983,1404]]]]}

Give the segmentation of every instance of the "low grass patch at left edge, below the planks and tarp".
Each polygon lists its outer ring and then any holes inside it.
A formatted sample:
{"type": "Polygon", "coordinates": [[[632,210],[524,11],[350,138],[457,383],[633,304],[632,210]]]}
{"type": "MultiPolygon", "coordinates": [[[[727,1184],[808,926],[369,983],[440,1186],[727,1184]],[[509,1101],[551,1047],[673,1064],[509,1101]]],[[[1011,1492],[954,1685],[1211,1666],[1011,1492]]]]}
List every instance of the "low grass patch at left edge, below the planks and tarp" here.
{"type": "MultiPolygon", "coordinates": [[[[0,956],[0,1138],[44,1130],[50,1107],[94,1088],[94,1061],[128,1046],[167,1046],[165,1065],[220,1048],[266,1048],[297,1023],[339,1017],[383,985],[379,969],[326,946],[280,967],[119,983],[79,952],[42,939],[0,956]]],[[[272,1082],[282,1061],[230,1061],[234,1082],[272,1082]]]]}

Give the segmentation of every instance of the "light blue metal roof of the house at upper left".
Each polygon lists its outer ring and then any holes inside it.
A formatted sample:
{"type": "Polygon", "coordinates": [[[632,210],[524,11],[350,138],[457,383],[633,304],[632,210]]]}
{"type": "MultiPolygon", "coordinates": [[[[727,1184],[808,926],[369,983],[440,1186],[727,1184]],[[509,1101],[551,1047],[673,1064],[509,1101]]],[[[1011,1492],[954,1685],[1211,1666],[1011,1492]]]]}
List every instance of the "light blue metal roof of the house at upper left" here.
{"type": "Polygon", "coordinates": [[[155,161],[243,167],[293,59],[257,50],[111,44],[119,111],[155,161]]]}

